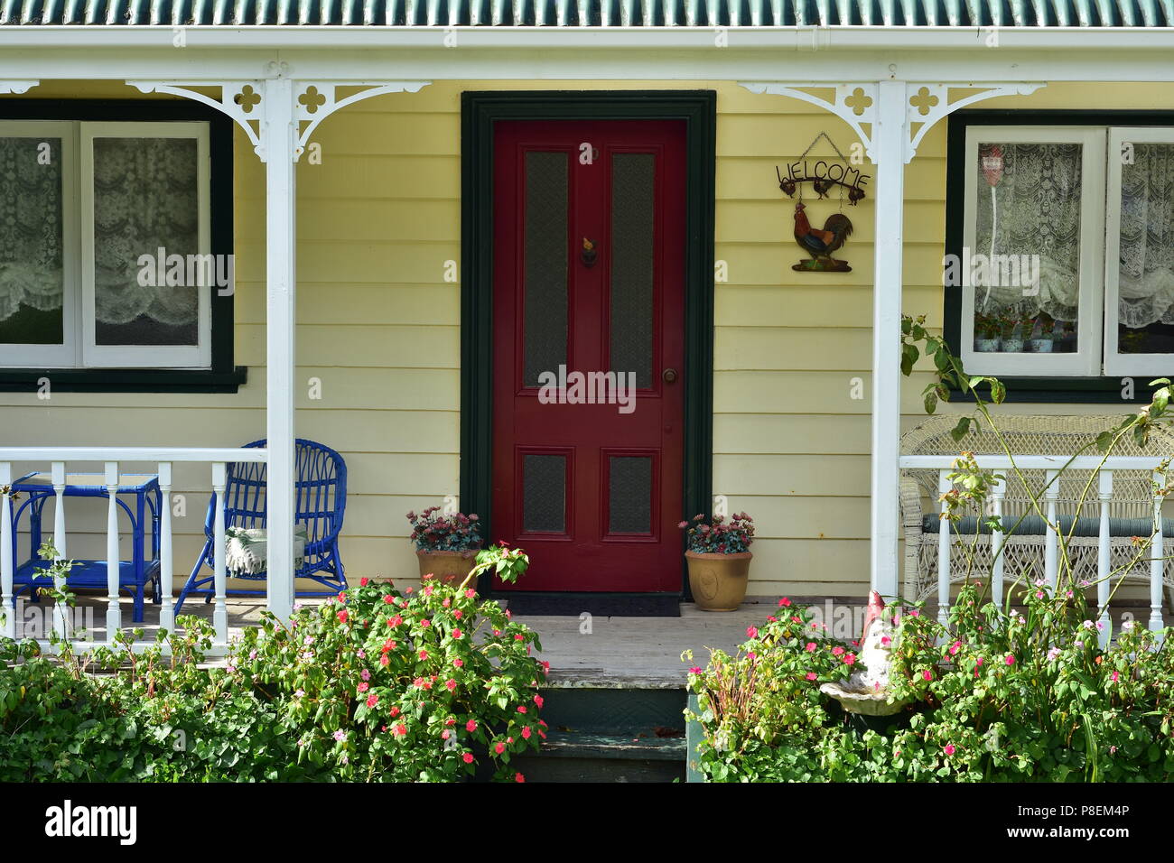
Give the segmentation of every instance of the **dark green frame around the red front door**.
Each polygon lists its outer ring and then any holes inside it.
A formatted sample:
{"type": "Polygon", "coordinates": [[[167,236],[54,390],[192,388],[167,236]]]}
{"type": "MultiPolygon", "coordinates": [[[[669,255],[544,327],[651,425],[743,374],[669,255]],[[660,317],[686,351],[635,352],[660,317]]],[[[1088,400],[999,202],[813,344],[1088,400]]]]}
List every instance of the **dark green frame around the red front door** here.
{"type": "MultiPolygon", "coordinates": [[[[713,499],[714,90],[544,90],[461,94],[460,499],[493,538],[493,123],[498,120],[686,122],[683,513],[713,499]]],[[[683,542],[683,538],[682,538],[683,542]]],[[[683,547],[683,546],[682,546],[683,547]]],[[[488,587],[488,579],[483,580],[488,587]]],[[[682,595],[688,598],[682,557],[682,595]]]]}

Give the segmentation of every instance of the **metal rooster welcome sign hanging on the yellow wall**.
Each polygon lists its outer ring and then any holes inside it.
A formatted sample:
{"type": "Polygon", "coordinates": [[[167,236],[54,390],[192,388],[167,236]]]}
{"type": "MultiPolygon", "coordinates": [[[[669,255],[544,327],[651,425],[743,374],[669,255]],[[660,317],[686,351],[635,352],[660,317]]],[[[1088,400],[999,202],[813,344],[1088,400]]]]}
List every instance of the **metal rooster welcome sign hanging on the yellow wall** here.
{"type": "MultiPolygon", "coordinates": [[[[819,133],[816,140],[811,142],[811,147],[815,147],[821,137],[828,139],[826,134],[819,133]]],[[[831,143],[831,139],[828,139],[828,142],[831,143]]],[[[839,154],[839,157],[844,159],[839,149],[834,143],[831,146],[839,154]]],[[[778,188],[788,197],[795,197],[795,194],[798,193],[799,200],[795,203],[795,242],[803,251],[811,256],[794,264],[791,269],[799,271],[809,270],[811,272],[851,272],[852,268],[848,265],[846,261],[839,261],[831,255],[843,247],[844,242],[852,234],[852,222],[843,214],[845,191],[849,203],[855,205],[857,201],[864,197],[863,186],[868,175],[845,166],[829,166],[824,161],[816,162],[815,168],[809,169],[808,163],[802,160],[811,151],[811,147],[807,148],[803,156],[799,157],[799,162],[787,166],[785,177],[778,170],[778,167],[775,167],[775,175],[778,177],[778,188]],[[837,186],[839,187],[841,211],[828,216],[822,229],[814,228],[804,211],[807,210],[807,205],[803,203],[803,186],[805,183],[811,184],[817,200],[826,198],[831,189],[837,186]]],[[[844,161],[846,162],[848,160],[844,161]]]]}

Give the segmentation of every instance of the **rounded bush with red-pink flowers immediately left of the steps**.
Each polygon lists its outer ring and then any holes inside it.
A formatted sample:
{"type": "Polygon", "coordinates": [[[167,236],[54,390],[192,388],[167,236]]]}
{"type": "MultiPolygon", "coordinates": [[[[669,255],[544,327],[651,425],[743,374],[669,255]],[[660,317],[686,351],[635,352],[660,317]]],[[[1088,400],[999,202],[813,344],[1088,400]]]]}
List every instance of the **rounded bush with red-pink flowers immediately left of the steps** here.
{"type": "Polygon", "coordinates": [[[404,594],[364,579],[288,627],[266,618],[247,631],[230,670],[279,706],[298,763],[346,780],[453,781],[484,761],[521,781],[511,756],[546,736],[546,666],[531,655],[541,646],[468,584],[490,567],[512,580],[524,562],[495,546],[465,584],[427,579],[404,594]]]}

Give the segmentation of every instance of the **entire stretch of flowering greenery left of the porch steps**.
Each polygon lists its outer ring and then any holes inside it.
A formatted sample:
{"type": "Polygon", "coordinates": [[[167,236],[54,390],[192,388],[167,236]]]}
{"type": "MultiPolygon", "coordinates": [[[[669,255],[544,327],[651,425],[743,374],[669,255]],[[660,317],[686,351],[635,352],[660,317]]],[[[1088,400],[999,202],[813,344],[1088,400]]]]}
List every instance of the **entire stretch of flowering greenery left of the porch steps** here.
{"type": "MultiPolygon", "coordinates": [[[[527,564],[495,546],[467,581],[527,564]]],[[[266,615],[227,667],[203,665],[207,623],[178,622],[139,653],[141,631],[59,656],[0,639],[0,781],[454,781],[479,767],[521,781],[511,755],[545,736],[537,635],[467,585],[364,579],[288,625],[266,615]]]]}

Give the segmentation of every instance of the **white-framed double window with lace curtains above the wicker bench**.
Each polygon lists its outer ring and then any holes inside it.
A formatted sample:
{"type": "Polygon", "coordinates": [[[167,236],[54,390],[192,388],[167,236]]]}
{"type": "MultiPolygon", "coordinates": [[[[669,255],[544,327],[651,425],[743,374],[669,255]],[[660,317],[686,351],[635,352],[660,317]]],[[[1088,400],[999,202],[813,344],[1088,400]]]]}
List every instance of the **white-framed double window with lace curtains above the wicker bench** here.
{"type": "Polygon", "coordinates": [[[1174,368],[1174,128],[966,127],[960,254],[969,371],[1174,368]]]}

